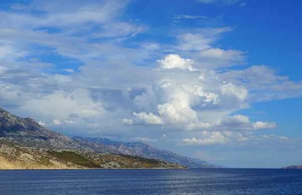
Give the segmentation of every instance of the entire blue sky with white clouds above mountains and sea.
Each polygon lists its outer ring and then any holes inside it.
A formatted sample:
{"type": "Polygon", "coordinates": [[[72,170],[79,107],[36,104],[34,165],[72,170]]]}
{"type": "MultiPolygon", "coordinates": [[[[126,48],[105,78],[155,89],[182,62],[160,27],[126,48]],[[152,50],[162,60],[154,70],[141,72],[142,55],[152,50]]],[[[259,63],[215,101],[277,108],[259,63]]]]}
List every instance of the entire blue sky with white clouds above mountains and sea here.
{"type": "Polygon", "coordinates": [[[0,107],[228,167],[302,164],[299,0],[3,0],[0,107]]]}

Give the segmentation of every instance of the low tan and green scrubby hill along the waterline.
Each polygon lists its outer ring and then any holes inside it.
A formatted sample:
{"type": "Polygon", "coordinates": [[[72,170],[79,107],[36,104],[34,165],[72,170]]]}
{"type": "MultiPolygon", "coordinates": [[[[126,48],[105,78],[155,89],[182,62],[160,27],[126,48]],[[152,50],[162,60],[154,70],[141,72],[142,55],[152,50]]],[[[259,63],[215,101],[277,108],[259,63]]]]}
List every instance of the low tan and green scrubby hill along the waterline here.
{"type": "Polygon", "coordinates": [[[186,169],[187,167],[128,155],[0,145],[0,169],[87,168],[186,169]]]}

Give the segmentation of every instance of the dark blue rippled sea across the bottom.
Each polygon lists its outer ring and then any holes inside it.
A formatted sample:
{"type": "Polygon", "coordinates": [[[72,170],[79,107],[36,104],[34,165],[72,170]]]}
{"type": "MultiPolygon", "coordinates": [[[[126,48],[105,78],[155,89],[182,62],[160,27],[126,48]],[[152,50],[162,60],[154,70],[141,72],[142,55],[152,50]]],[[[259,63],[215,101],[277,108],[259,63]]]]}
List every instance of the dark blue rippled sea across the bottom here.
{"type": "Polygon", "coordinates": [[[302,194],[302,170],[0,170],[0,194],[302,194]]]}

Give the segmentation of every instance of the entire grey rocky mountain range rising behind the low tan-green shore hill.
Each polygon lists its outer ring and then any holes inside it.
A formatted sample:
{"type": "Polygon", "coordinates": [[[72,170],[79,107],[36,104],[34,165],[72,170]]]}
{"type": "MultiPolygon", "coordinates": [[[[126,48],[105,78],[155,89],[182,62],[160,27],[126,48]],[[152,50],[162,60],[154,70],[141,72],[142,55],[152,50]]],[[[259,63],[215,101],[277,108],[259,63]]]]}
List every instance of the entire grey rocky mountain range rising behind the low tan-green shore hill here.
{"type": "Polygon", "coordinates": [[[189,168],[222,168],[206,161],[158,150],[144,142],[121,143],[106,138],[68,138],[39,125],[33,118],[21,118],[0,108],[0,144],[36,148],[68,149],[159,159],[189,168]]]}

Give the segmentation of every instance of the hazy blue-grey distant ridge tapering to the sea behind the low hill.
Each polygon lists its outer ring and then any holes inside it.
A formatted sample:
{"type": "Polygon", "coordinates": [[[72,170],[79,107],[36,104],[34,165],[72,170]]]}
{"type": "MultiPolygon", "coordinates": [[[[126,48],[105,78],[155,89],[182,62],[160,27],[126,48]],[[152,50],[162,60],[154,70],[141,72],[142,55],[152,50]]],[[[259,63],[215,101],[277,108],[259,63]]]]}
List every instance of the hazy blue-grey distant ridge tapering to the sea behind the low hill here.
{"type": "Polygon", "coordinates": [[[82,147],[91,148],[97,153],[127,154],[149,159],[160,159],[167,162],[184,165],[189,168],[220,168],[200,159],[193,159],[175,154],[167,150],[158,150],[144,142],[122,143],[106,138],[73,137],[82,147]]]}

